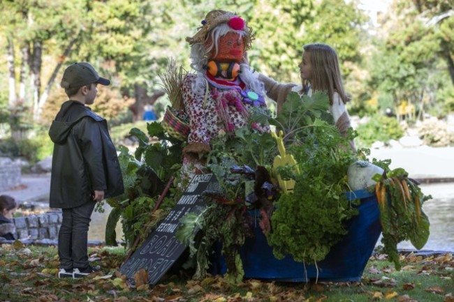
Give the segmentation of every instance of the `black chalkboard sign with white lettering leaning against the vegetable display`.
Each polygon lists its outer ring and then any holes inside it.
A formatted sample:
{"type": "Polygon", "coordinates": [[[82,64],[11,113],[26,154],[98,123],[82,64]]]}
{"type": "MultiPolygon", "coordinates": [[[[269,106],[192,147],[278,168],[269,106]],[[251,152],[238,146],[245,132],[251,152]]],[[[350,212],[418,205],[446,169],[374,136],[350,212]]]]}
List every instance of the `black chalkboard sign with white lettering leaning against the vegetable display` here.
{"type": "Polygon", "coordinates": [[[155,285],[186,249],[187,245],[178,241],[175,233],[180,226],[180,218],[186,213],[202,213],[206,208],[200,196],[205,190],[219,191],[219,183],[213,174],[196,175],[191,179],[172,211],[122,265],[120,273],[133,280],[138,270],[145,269],[148,283],[155,285]]]}

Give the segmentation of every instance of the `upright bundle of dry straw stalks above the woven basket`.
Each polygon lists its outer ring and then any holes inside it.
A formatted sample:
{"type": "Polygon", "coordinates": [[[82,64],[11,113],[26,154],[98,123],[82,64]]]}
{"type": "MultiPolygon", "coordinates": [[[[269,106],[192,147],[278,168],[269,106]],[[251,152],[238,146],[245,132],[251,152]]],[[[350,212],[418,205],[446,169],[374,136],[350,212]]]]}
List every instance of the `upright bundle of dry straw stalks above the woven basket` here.
{"type": "Polygon", "coordinates": [[[182,66],[178,67],[175,59],[171,58],[169,59],[166,73],[159,75],[163,83],[163,89],[166,91],[170,103],[175,109],[182,110],[184,108],[181,88],[186,74],[186,70],[182,66]]]}

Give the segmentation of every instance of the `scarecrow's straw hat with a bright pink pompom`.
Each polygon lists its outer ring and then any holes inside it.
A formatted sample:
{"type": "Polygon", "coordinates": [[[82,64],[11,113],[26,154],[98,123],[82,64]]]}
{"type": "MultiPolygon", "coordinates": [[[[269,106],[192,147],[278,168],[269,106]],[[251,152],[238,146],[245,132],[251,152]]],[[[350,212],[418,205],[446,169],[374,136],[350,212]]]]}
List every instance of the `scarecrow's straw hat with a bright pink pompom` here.
{"type": "Polygon", "coordinates": [[[245,31],[247,35],[244,37],[244,46],[246,50],[251,47],[251,41],[254,38],[252,36],[252,29],[247,26],[241,17],[226,10],[211,10],[207,13],[205,20],[202,21],[202,27],[198,28],[198,32],[193,37],[186,37],[186,41],[190,45],[205,43],[207,34],[219,24],[223,23],[227,23],[232,29],[245,31]]]}

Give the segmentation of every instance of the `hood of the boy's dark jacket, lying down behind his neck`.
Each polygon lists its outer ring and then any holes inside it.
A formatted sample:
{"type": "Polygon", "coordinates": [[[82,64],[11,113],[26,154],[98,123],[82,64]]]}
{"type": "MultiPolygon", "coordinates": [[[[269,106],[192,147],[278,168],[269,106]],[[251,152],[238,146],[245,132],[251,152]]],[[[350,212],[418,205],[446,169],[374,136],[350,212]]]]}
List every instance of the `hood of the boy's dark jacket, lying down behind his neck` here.
{"type": "Polygon", "coordinates": [[[90,108],[75,100],[68,100],[63,105],[50,125],[49,137],[54,144],[64,144],[73,126],[85,116],[100,119],[90,108]]]}

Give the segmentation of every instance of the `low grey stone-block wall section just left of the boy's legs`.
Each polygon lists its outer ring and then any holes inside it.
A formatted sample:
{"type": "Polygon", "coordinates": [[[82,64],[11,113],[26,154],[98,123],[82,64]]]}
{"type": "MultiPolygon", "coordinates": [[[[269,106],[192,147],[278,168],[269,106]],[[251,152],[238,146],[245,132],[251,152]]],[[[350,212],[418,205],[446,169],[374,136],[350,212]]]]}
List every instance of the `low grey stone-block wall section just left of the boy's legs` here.
{"type": "Polygon", "coordinates": [[[17,239],[58,239],[61,211],[13,218],[17,239]]]}

